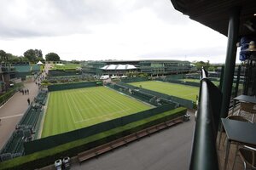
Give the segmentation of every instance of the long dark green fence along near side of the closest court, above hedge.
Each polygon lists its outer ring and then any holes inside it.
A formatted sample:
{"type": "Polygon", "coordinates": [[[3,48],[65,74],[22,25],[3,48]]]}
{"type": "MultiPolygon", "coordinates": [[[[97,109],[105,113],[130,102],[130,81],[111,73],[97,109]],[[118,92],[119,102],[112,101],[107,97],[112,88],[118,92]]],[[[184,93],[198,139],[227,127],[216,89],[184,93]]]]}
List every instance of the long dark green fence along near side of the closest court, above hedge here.
{"type": "MultiPolygon", "coordinates": [[[[173,110],[173,105],[162,105],[160,107],[156,107],[148,111],[141,111],[129,116],[119,117],[117,119],[113,119],[108,122],[102,122],[96,125],[92,125],[90,127],[84,127],[71,132],[61,133],[61,134],[49,136],[43,139],[37,139],[30,142],[26,142],[24,144],[25,154],[26,155],[32,154],[40,150],[47,150],[49,148],[52,148],[61,144],[66,144],[74,140],[84,139],[96,133],[102,133],[116,127],[125,126],[128,123],[137,122],[149,116],[155,116],[157,114],[163,113],[165,111],[171,111],[171,110],[173,110]]],[[[185,113],[182,112],[180,114],[184,115],[185,113]]],[[[178,116],[181,116],[181,115],[178,115],[178,116]]]]}

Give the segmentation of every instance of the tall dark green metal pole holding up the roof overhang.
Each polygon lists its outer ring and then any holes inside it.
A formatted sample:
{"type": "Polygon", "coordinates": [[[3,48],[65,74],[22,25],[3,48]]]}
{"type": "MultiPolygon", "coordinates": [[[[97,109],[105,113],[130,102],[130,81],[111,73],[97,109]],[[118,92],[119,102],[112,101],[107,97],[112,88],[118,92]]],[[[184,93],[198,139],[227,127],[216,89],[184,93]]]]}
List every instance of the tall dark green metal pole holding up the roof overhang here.
{"type": "Polygon", "coordinates": [[[236,65],[236,42],[238,40],[239,16],[240,8],[231,8],[230,23],[228,30],[228,47],[224,66],[224,80],[222,84],[223,99],[220,112],[221,117],[228,116],[229,112],[230,96],[232,90],[234,70],[236,65]]]}

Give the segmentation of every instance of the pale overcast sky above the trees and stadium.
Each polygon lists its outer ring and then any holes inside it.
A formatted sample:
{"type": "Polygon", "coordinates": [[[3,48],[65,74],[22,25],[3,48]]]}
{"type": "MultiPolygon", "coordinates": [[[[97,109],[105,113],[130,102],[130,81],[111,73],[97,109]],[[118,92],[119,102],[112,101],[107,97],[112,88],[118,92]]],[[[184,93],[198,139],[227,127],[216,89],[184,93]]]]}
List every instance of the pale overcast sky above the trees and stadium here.
{"type": "Polygon", "coordinates": [[[0,16],[0,49],[19,56],[37,48],[65,60],[225,60],[227,37],[170,0],[1,0],[0,16]]]}

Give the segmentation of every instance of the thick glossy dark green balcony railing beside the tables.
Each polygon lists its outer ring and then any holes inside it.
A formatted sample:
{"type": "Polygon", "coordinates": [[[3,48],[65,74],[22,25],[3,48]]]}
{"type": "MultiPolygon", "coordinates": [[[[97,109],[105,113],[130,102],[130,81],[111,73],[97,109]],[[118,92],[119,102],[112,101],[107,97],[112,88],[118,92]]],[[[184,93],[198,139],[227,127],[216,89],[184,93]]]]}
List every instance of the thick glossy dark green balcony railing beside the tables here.
{"type": "Polygon", "coordinates": [[[218,170],[216,138],[222,94],[207,79],[207,71],[201,71],[201,88],[190,158],[190,170],[218,170]]]}

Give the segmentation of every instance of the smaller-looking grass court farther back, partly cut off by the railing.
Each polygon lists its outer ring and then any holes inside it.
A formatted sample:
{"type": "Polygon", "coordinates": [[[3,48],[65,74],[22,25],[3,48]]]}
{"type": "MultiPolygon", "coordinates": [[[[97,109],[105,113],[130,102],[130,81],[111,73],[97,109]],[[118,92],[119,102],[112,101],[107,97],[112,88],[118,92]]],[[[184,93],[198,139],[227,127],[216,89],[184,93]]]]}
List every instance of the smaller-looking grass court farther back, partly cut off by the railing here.
{"type": "Polygon", "coordinates": [[[160,82],[160,81],[147,81],[147,82],[131,82],[133,86],[147,88],[162,94],[168,94],[177,96],[183,99],[189,99],[196,101],[196,95],[199,94],[199,88],[193,86],[186,86],[171,82],[160,82]]]}

